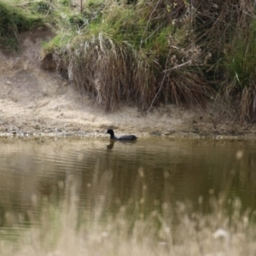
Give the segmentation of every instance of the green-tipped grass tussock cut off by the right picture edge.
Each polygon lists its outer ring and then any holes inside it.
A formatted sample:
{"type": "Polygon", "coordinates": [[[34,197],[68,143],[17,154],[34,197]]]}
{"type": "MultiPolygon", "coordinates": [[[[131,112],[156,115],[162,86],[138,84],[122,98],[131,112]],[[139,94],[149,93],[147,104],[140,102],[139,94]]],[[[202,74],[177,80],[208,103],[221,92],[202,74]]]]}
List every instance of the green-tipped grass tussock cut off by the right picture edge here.
{"type": "Polygon", "coordinates": [[[256,121],[256,39],[255,20],[249,27],[237,27],[230,44],[227,45],[224,60],[225,77],[222,83],[224,97],[239,110],[239,118],[256,121]]]}

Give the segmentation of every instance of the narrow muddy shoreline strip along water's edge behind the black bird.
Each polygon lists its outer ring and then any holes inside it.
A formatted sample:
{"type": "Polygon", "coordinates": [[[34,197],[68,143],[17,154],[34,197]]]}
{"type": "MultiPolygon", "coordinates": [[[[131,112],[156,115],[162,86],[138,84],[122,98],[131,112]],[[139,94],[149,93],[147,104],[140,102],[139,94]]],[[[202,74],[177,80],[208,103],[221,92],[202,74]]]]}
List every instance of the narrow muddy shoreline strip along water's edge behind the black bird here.
{"type": "MultiPolygon", "coordinates": [[[[61,138],[61,139],[86,139],[86,138],[102,138],[104,140],[109,139],[109,135],[106,134],[108,127],[114,128],[117,126],[107,125],[105,128],[99,128],[94,125],[87,126],[87,129],[83,129],[81,125],[73,124],[66,125],[65,123],[55,123],[54,125],[49,125],[54,120],[49,119],[48,122],[45,122],[45,125],[41,127],[39,125],[17,127],[12,123],[2,123],[0,139],[10,138],[10,139],[38,139],[38,138],[61,138]]],[[[206,124],[204,124],[206,125],[206,124]]],[[[105,126],[105,125],[104,125],[105,126]]],[[[190,131],[179,131],[179,130],[165,130],[158,129],[154,130],[151,127],[149,131],[143,131],[142,129],[132,129],[130,132],[129,127],[127,129],[117,129],[115,130],[118,135],[124,135],[133,133],[137,137],[147,138],[147,137],[161,137],[161,138],[189,138],[189,139],[224,139],[224,140],[251,140],[256,141],[256,132],[254,131],[253,125],[244,127],[236,127],[236,130],[228,129],[227,127],[222,128],[221,132],[216,131],[207,131],[207,129],[199,129],[199,125],[192,125],[190,131]],[[193,131],[194,130],[194,131],[193,131]]],[[[207,126],[207,125],[206,125],[207,126]]],[[[231,125],[230,125],[231,126],[231,125]]],[[[162,127],[165,128],[165,127],[162,127]]]]}

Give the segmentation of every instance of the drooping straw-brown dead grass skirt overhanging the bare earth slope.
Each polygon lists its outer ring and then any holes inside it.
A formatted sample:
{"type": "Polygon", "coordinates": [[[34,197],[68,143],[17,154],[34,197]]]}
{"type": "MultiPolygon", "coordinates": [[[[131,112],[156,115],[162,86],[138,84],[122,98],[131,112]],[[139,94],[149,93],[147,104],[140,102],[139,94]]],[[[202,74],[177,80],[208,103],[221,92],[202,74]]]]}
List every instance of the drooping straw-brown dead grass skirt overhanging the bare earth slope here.
{"type": "Polygon", "coordinates": [[[61,49],[53,55],[57,69],[67,73],[80,90],[95,96],[98,104],[113,110],[137,95],[135,80],[142,82],[146,71],[133,70],[137,63],[129,44],[118,43],[100,32],[84,43],[78,39],[71,47],[72,50],[64,49],[63,53],[61,49]]]}

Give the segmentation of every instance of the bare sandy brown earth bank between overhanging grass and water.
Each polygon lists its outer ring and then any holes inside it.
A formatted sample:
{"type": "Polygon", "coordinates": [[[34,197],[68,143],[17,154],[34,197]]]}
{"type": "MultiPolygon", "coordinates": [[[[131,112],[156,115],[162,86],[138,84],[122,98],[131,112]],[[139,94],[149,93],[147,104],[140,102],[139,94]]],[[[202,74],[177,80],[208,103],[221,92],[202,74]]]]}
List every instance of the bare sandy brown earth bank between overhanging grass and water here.
{"type": "Polygon", "coordinates": [[[206,109],[175,105],[144,113],[121,106],[106,113],[75,85],[40,67],[42,42],[47,31],[20,36],[20,53],[0,51],[0,136],[108,137],[106,129],[138,137],[256,138],[256,125],[238,124],[218,115],[213,102],[206,109]]]}

